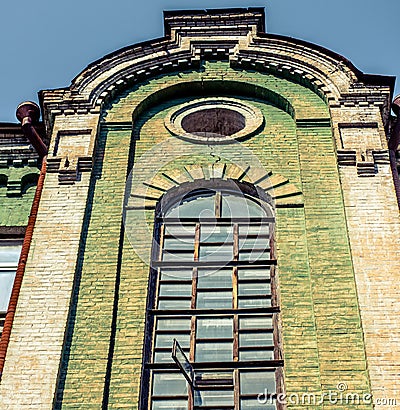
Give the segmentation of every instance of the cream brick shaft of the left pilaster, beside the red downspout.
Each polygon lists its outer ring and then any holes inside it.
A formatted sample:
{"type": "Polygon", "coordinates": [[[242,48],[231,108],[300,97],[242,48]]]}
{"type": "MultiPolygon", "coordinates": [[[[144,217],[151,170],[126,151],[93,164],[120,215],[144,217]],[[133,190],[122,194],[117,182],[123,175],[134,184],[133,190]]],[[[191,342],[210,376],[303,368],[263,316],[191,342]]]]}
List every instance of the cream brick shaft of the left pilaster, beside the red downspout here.
{"type": "Polygon", "coordinates": [[[0,385],[4,409],[51,408],[88,178],[60,188],[47,174],[0,385]]]}

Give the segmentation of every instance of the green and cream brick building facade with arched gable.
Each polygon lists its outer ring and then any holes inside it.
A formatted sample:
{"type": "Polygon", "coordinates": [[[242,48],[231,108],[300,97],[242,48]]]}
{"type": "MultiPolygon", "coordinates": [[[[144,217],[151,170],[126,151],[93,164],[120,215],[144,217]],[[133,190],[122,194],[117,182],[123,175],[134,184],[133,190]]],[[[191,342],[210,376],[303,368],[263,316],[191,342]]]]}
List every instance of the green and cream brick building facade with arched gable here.
{"type": "Polygon", "coordinates": [[[2,408],[400,402],[394,79],[264,31],[165,13],[40,92],[47,155],[0,124],[2,408]]]}

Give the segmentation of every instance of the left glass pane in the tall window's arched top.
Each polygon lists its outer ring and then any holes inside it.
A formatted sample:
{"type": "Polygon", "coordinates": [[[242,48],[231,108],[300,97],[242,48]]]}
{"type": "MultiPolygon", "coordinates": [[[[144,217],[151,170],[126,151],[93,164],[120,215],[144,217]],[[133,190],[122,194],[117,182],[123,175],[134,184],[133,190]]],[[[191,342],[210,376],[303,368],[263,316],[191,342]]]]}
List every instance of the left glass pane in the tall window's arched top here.
{"type": "Polygon", "coordinates": [[[207,194],[186,200],[177,207],[170,209],[165,216],[168,218],[214,217],[215,196],[214,194],[205,195],[207,194]]]}

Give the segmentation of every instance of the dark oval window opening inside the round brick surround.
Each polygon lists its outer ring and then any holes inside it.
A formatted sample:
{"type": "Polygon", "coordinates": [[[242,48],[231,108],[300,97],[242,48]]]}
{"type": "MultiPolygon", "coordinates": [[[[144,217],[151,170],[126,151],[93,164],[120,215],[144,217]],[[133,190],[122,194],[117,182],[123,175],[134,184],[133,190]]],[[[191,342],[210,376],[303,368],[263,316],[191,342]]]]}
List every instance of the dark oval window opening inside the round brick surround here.
{"type": "Polygon", "coordinates": [[[227,137],[243,130],[245,117],[227,108],[206,108],[188,114],[182,119],[182,128],[201,137],[227,137]]]}

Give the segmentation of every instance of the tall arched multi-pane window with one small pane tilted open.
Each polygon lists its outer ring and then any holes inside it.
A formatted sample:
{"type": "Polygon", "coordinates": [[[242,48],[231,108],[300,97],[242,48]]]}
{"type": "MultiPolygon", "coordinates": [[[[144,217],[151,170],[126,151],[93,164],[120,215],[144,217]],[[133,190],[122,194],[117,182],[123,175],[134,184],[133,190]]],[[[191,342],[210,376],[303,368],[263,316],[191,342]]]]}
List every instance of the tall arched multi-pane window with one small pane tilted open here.
{"type": "Polygon", "coordinates": [[[141,408],[277,408],[273,211],[234,185],[171,193],[160,205],[141,408]]]}

